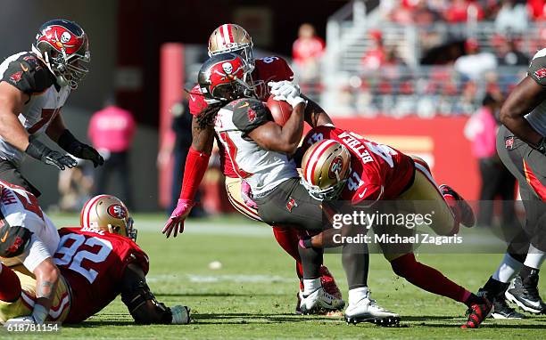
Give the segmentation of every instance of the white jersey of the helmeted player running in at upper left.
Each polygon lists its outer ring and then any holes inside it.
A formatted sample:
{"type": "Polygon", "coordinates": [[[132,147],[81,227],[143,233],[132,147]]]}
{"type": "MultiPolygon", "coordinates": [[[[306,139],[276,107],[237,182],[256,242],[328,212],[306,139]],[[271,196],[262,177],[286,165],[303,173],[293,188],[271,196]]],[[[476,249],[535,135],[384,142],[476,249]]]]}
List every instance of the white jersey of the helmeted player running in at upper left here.
{"type": "MultiPolygon", "coordinates": [[[[70,94],[70,86],[56,85],[54,75],[34,53],[13,54],[0,64],[0,82],[17,87],[30,96],[19,114],[29,134],[43,134],[70,94]]],[[[0,158],[21,164],[25,153],[0,136],[0,158]]]]}

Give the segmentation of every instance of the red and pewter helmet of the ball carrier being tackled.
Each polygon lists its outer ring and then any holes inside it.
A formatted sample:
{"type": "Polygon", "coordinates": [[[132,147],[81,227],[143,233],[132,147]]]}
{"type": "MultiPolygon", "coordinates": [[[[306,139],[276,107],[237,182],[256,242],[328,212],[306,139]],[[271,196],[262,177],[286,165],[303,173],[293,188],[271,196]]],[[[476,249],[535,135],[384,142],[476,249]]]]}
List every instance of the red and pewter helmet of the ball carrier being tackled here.
{"type": "Polygon", "coordinates": [[[222,53],[203,63],[197,81],[208,101],[233,101],[255,94],[248,84],[251,73],[250,66],[240,55],[222,53]]]}

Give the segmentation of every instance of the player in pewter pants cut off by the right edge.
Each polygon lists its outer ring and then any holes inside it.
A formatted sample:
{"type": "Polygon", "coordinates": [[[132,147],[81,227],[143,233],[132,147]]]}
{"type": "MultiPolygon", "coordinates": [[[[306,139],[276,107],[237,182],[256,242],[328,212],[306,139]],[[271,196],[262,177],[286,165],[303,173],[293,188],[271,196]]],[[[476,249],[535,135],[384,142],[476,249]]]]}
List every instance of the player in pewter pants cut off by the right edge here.
{"type": "Polygon", "coordinates": [[[545,313],[538,291],[539,270],[546,258],[546,49],[534,55],[527,76],[501,108],[497,152],[517,178],[525,207],[525,226],[510,241],[501,264],[481,290],[495,304],[493,317],[521,319],[505,296],[525,312],[545,313]],[[509,287],[513,279],[512,287],[509,287]],[[507,290],[508,288],[508,290],[507,290]]]}

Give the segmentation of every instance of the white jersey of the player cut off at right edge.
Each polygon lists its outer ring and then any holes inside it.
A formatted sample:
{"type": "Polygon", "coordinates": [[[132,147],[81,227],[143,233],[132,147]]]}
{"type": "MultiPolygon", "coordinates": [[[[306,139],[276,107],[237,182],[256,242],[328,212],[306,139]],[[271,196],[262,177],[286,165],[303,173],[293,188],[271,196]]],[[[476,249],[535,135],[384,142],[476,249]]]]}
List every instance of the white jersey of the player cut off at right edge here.
{"type": "MultiPolygon", "coordinates": [[[[546,87],[546,48],[534,54],[527,74],[538,85],[546,87]]],[[[546,101],[542,101],[533,111],[525,115],[525,119],[537,133],[546,136],[546,101]]]]}

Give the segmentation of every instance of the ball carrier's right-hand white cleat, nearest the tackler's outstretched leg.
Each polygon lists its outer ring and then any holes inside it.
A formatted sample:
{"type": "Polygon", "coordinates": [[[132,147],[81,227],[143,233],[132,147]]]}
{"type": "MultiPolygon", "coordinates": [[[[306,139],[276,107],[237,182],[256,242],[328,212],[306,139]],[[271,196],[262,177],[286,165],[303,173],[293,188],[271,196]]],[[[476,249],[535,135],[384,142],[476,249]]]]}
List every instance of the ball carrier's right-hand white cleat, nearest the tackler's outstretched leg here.
{"type": "Polygon", "coordinates": [[[376,300],[370,298],[369,292],[356,304],[349,304],[345,310],[344,318],[347,324],[371,322],[384,327],[400,325],[400,316],[376,304],[376,300]]]}

